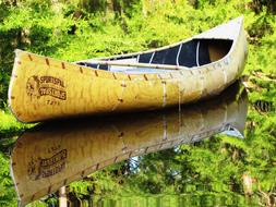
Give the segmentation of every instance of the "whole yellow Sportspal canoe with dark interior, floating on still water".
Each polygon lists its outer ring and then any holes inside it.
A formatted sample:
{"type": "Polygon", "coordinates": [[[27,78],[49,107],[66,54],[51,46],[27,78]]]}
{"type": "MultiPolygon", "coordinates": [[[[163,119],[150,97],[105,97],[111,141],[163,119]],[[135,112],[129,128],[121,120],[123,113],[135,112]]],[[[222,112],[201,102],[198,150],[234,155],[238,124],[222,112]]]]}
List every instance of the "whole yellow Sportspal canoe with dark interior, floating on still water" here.
{"type": "Polygon", "coordinates": [[[218,95],[247,58],[238,17],[187,40],[73,63],[16,50],[9,106],[22,122],[153,110],[218,95]]]}

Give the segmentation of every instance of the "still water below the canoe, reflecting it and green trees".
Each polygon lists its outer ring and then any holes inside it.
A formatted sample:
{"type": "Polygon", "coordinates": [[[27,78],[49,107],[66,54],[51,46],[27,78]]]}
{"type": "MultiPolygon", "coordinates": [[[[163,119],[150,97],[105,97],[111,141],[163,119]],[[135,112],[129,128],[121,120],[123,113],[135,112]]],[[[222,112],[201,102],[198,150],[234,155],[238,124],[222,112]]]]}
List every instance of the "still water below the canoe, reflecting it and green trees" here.
{"type": "Polygon", "coordinates": [[[248,106],[235,85],[196,105],[1,139],[0,206],[57,206],[62,186],[71,206],[273,206],[275,148],[255,138],[248,106]]]}

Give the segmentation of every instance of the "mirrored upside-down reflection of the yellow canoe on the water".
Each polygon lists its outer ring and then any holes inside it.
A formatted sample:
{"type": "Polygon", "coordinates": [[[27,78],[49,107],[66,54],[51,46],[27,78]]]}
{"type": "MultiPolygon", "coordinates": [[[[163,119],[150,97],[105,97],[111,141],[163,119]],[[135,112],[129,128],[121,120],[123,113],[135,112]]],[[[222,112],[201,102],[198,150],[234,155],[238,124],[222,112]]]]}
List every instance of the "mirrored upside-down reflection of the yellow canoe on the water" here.
{"type": "MultiPolygon", "coordinates": [[[[232,88],[231,88],[232,89],[232,88]]],[[[12,174],[22,204],[130,157],[201,141],[225,130],[243,131],[247,98],[216,100],[165,112],[83,120],[24,133],[12,151],[12,174]]]]}

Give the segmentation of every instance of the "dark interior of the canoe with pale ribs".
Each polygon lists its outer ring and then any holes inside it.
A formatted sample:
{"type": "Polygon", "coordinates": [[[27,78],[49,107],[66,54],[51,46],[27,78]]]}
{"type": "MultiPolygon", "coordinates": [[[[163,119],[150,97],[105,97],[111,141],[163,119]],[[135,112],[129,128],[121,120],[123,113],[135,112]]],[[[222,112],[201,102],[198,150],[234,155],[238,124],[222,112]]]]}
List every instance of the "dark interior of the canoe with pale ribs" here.
{"type": "MultiPolygon", "coordinates": [[[[192,39],[172,47],[167,47],[157,51],[142,52],[136,56],[124,56],[121,58],[104,59],[105,61],[118,61],[123,63],[148,63],[180,65],[187,68],[202,66],[224,58],[231,49],[230,39],[192,39]]],[[[99,70],[112,72],[125,72],[130,66],[113,66],[106,64],[95,64],[89,62],[77,62],[77,64],[91,66],[99,70]]],[[[134,68],[133,68],[134,69],[134,68]]],[[[145,72],[140,68],[137,72],[145,72]]],[[[146,69],[147,72],[160,72],[161,70],[146,69]]]]}

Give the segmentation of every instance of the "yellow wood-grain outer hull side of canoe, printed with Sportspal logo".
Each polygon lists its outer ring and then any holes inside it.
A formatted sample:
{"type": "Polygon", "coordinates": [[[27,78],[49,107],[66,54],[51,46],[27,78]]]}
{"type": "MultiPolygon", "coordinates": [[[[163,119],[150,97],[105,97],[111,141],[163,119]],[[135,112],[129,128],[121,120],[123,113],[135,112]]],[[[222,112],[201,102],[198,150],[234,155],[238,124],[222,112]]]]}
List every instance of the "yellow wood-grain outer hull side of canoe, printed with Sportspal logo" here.
{"type": "MultiPolygon", "coordinates": [[[[152,110],[217,95],[243,70],[247,41],[242,21],[237,22],[236,28],[237,38],[224,59],[166,73],[110,72],[16,50],[9,106],[17,120],[36,122],[152,110]]],[[[204,34],[199,37],[204,38],[204,34]]]]}

